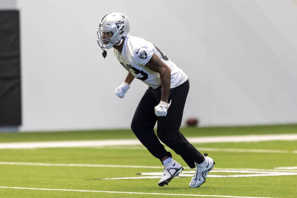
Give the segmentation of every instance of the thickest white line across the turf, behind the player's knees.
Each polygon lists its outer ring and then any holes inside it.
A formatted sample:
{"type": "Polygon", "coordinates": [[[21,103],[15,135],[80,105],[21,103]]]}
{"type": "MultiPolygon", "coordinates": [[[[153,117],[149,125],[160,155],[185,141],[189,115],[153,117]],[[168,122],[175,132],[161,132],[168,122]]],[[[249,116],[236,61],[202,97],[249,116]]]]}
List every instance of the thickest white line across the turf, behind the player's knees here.
{"type": "MultiPolygon", "coordinates": [[[[275,141],[275,140],[297,140],[297,134],[207,136],[207,137],[188,137],[187,139],[191,143],[260,142],[260,141],[275,141]]],[[[139,142],[138,139],[18,142],[18,143],[0,143],[0,149],[94,147],[94,146],[123,146],[123,145],[141,145],[141,143],[139,142]]]]}

